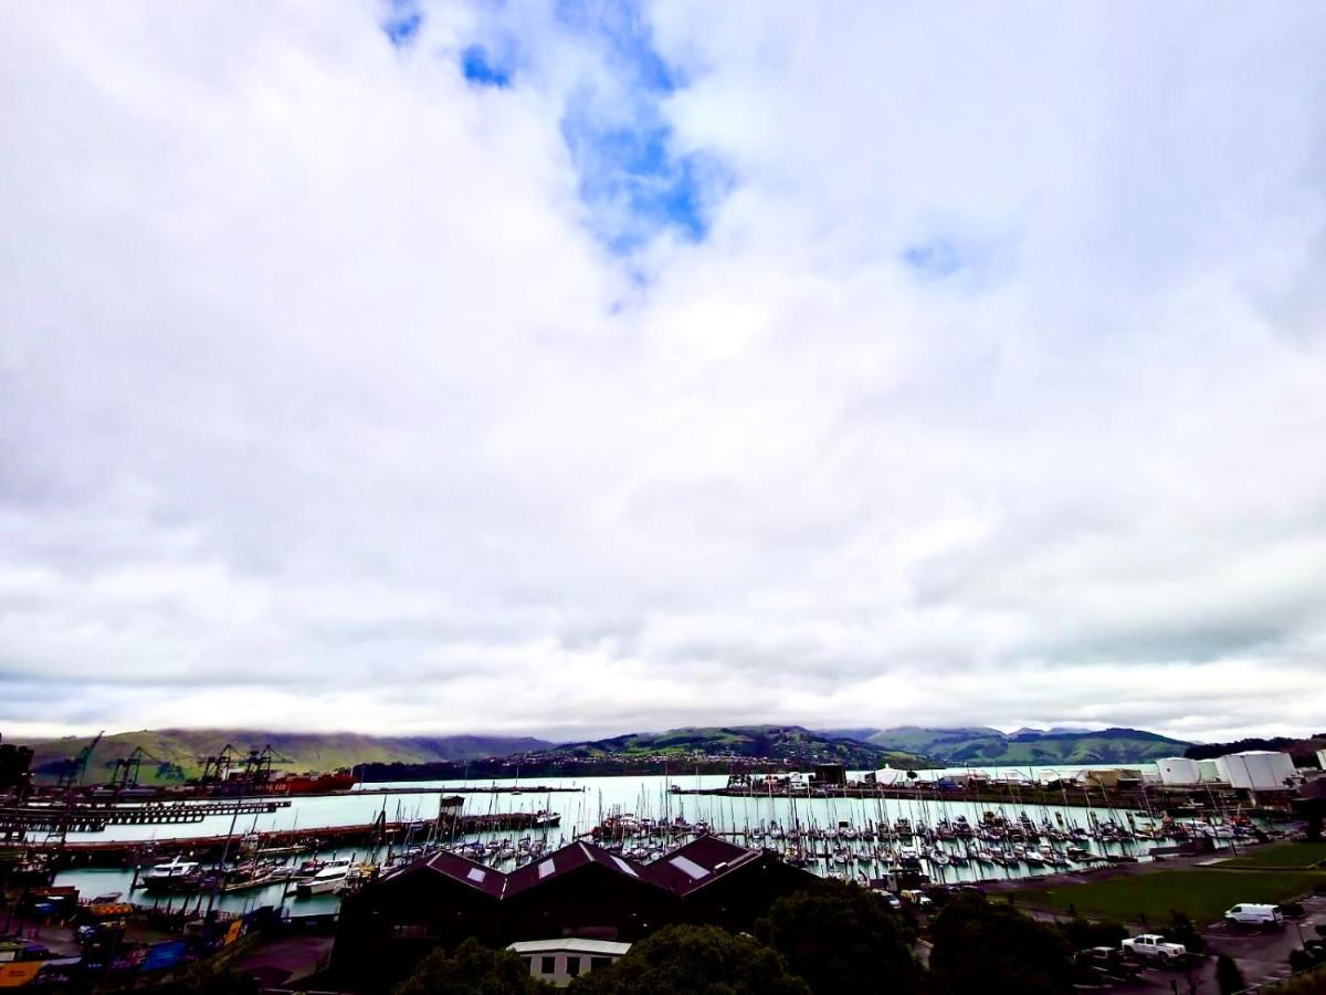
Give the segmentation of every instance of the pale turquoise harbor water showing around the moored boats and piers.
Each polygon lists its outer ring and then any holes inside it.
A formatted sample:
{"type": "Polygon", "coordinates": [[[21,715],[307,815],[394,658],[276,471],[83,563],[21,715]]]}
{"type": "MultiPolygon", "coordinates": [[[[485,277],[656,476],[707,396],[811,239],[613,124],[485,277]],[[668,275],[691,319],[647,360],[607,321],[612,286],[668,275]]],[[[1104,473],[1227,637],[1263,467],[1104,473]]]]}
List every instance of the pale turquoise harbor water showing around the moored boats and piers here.
{"type": "MultiPolygon", "coordinates": [[[[1057,768],[1067,772],[1078,768],[1057,768]]],[[[924,771],[918,772],[927,781],[935,781],[945,773],[971,773],[971,768],[961,771],[924,771]]],[[[1000,768],[991,771],[992,776],[1009,779],[1012,771],[1000,768]]],[[[1034,780],[1049,775],[1042,771],[1020,769],[1017,775],[1034,780]]],[[[343,795],[294,797],[288,808],[278,808],[274,812],[243,816],[208,816],[202,823],[190,825],[111,825],[99,833],[70,833],[70,842],[105,841],[105,840],[168,840],[172,837],[199,837],[199,836],[227,836],[233,833],[236,838],[248,833],[264,833],[272,830],[308,829],[316,834],[318,828],[329,827],[367,827],[383,816],[389,823],[420,823],[424,827],[431,824],[439,815],[442,797],[450,791],[464,788],[483,788],[481,793],[467,793],[464,797],[463,815],[491,815],[509,812],[556,812],[560,824],[537,830],[517,832],[485,832],[465,837],[464,842],[493,845],[500,841],[516,844],[518,837],[526,837],[526,846],[530,845],[528,837],[533,836],[536,850],[553,850],[557,846],[572,842],[577,837],[585,836],[601,827],[605,820],[629,816],[635,820],[647,819],[656,824],[686,824],[690,827],[703,827],[709,832],[721,833],[736,842],[752,846],[770,846],[785,850],[790,846],[786,841],[790,833],[810,836],[808,844],[801,849],[808,854],[808,868],[822,874],[837,874],[857,880],[874,880],[882,877],[888,870],[888,850],[899,849],[903,842],[886,844],[875,842],[866,845],[858,842],[862,830],[871,834],[887,834],[898,824],[907,824],[916,829],[922,827],[935,828],[940,824],[953,825],[965,821],[971,827],[994,819],[1009,825],[1017,825],[1021,820],[1037,828],[1050,827],[1062,832],[1074,828],[1089,830],[1079,833],[1073,842],[1083,850],[1101,857],[1136,857],[1147,860],[1147,853],[1156,841],[1150,838],[1109,838],[1111,832],[1097,832],[1098,827],[1119,827],[1123,830],[1134,828],[1146,829],[1151,825],[1148,813],[1139,811],[1115,811],[1109,807],[1067,807],[1067,805],[1041,805],[1024,804],[1018,796],[1018,785],[1012,780],[1005,780],[1001,795],[1006,800],[992,803],[965,803],[952,801],[944,797],[944,791],[936,785],[934,791],[922,792],[918,799],[878,799],[878,797],[806,797],[806,796],[725,796],[725,795],[692,795],[684,793],[695,789],[723,788],[728,779],[725,775],[688,775],[675,776],[619,776],[619,777],[540,777],[537,785],[529,780],[484,780],[484,781],[430,781],[407,784],[365,784],[358,789],[343,795]],[[538,791],[538,787],[558,788],[564,791],[538,791]],[[383,793],[383,788],[400,789],[399,793],[383,793]],[[423,791],[428,789],[428,791],[423,791]],[[679,793],[683,792],[683,793],[679,793]],[[839,827],[850,830],[850,836],[838,837],[839,827]],[[825,833],[831,830],[831,842],[825,840],[825,833]],[[834,850],[838,856],[834,856],[834,850]],[[847,852],[846,860],[842,850],[847,852]]],[[[450,811],[448,811],[450,813],[450,811]]],[[[627,819],[626,821],[631,821],[627,819]]],[[[419,837],[414,842],[423,842],[426,828],[419,830],[419,837]]],[[[1127,832],[1122,833],[1127,836],[1127,832]]],[[[646,848],[656,854],[664,845],[680,845],[690,836],[652,842],[643,840],[646,848]]],[[[451,842],[463,842],[460,840],[451,842]]],[[[626,840],[631,846],[642,841],[626,840]]],[[[979,841],[977,841],[979,844],[979,841]]],[[[920,838],[916,844],[920,845],[920,838]]],[[[945,841],[941,844],[945,853],[955,852],[961,857],[964,848],[969,844],[960,841],[945,841]]],[[[385,853],[343,850],[324,850],[321,857],[353,856],[357,860],[382,860],[385,853]]],[[[643,850],[639,856],[644,856],[643,850]]],[[[511,869],[511,868],[503,868],[511,869]]],[[[1010,878],[1032,876],[1037,873],[1053,872],[1053,866],[1029,865],[1021,861],[1009,861],[997,866],[988,862],[971,861],[961,864],[937,864],[924,861],[923,869],[936,882],[963,882],[992,878],[1010,878]]],[[[95,894],[122,892],[130,897],[130,884],[133,869],[101,869],[78,868],[62,872],[57,884],[77,886],[85,898],[95,894]]],[[[166,898],[149,898],[143,892],[134,892],[133,899],[151,903],[152,901],[164,903],[166,898]]],[[[179,903],[183,897],[176,896],[174,901],[179,903]]],[[[277,884],[269,888],[253,889],[251,892],[216,896],[215,903],[220,909],[231,911],[244,911],[247,909],[271,905],[286,906],[292,914],[318,914],[334,911],[339,903],[337,896],[313,896],[297,899],[285,896],[285,885],[277,884]]]]}

